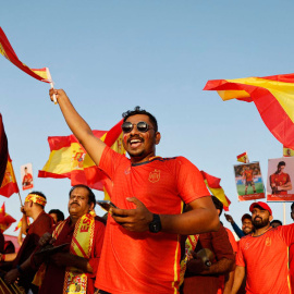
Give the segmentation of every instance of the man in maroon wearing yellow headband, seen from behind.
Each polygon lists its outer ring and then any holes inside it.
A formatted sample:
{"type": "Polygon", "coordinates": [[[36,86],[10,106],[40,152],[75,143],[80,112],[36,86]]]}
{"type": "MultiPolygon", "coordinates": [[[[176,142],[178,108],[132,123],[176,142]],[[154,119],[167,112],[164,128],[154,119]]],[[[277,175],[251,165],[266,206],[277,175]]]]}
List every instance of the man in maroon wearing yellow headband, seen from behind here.
{"type": "MultiPolygon", "coordinates": [[[[26,237],[13,261],[13,269],[4,278],[5,282],[12,283],[20,277],[19,284],[25,289],[26,293],[29,289],[33,293],[37,293],[36,286],[32,285],[36,272],[22,270],[22,265],[37,247],[40,236],[50,232],[53,224],[52,218],[44,211],[46,203],[46,196],[40,192],[32,192],[26,196],[24,206],[21,208],[23,219],[29,217],[34,222],[27,229],[26,237]]],[[[13,257],[13,254],[1,258],[9,261],[12,259],[11,257],[13,257]]]]}

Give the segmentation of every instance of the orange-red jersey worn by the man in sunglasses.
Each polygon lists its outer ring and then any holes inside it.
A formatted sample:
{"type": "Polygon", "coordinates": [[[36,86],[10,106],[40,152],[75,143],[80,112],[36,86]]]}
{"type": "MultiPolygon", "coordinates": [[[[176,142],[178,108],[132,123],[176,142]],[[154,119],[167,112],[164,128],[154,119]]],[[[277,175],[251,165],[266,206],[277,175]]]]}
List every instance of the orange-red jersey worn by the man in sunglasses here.
{"type": "MultiPolygon", "coordinates": [[[[200,172],[184,157],[132,164],[106,147],[99,168],[113,181],[111,201],[122,209],[134,209],[126,197],[136,197],[154,213],[179,215],[183,203],[209,195],[200,172]]],[[[130,232],[109,216],[95,286],[110,293],[176,293],[180,255],[179,235],[130,232]]]]}

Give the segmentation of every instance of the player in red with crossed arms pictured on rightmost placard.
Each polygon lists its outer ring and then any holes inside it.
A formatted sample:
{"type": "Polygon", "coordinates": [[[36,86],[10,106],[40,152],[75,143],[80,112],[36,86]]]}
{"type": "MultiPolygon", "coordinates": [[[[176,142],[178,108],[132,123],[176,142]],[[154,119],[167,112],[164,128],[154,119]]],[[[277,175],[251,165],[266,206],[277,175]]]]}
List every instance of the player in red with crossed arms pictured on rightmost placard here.
{"type": "Polygon", "coordinates": [[[285,162],[280,161],[277,171],[270,175],[270,186],[272,194],[286,195],[287,191],[292,189],[290,175],[284,173],[285,162]]]}

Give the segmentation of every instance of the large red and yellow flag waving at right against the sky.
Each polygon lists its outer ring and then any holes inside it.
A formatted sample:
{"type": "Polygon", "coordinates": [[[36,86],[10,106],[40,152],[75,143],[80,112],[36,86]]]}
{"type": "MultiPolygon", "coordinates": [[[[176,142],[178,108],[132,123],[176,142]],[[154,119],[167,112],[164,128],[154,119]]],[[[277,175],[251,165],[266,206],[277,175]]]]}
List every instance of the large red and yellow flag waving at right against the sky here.
{"type": "Polygon", "coordinates": [[[205,90],[217,90],[223,100],[256,105],[272,135],[294,149],[294,74],[208,81],[205,90]]]}

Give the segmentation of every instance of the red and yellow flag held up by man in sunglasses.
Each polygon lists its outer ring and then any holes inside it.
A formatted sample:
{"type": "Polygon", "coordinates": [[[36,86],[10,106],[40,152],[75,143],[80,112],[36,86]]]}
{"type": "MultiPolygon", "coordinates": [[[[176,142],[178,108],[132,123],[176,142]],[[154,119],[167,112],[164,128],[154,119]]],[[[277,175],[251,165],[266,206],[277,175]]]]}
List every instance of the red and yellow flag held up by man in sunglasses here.
{"type": "Polygon", "coordinates": [[[10,45],[4,32],[0,27],[0,53],[7,58],[10,62],[12,62],[15,66],[17,66],[23,72],[29,74],[30,76],[46,83],[51,83],[51,77],[48,68],[44,69],[29,69],[26,64],[24,64],[14,52],[12,46],[10,45]]]}

